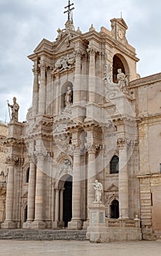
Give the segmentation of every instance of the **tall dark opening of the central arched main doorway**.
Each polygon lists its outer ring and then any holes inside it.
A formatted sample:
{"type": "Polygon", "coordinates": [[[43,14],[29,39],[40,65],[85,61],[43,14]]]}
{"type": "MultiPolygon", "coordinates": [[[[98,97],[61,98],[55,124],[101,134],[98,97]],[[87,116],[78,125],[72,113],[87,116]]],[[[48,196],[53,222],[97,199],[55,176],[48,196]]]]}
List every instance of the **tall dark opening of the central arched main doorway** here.
{"type": "Polygon", "coordinates": [[[68,176],[64,182],[63,191],[63,222],[64,227],[68,227],[68,222],[72,218],[72,182],[73,178],[68,176]]]}

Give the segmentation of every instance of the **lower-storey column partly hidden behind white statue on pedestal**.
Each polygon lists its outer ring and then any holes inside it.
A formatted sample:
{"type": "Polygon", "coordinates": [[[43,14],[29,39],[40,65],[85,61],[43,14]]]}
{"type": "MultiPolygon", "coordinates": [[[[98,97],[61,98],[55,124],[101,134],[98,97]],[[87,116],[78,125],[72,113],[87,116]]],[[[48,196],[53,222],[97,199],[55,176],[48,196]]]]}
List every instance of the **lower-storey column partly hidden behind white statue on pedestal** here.
{"type": "Polygon", "coordinates": [[[89,206],[91,206],[95,199],[95,191],[93,189],[93,182],[95,181],[95,146],[90,146],[88,150],[88,170],[87,170],[87,219],[89,216],[89,206]]]}

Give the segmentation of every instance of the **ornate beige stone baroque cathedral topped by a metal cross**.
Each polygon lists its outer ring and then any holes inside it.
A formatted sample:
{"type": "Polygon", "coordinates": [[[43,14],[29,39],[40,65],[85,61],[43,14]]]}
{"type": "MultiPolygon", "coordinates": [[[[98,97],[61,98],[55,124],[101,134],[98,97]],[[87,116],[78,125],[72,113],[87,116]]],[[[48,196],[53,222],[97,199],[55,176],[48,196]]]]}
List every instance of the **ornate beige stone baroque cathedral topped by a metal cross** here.
{"type": "Polygon", "coordinates": [[[70,1],[66,12],[55,41],[42,39],[28,56],[34,83],[25,122],[12,105],[1,228],[86,230],[98,180],[113,240],[122,240],[122,228],[134,240],[154,239],[161,233],[161,73],[137,74],[123,18],[112,19],[111,30],[92,25],[82,33],[70,1]]]}

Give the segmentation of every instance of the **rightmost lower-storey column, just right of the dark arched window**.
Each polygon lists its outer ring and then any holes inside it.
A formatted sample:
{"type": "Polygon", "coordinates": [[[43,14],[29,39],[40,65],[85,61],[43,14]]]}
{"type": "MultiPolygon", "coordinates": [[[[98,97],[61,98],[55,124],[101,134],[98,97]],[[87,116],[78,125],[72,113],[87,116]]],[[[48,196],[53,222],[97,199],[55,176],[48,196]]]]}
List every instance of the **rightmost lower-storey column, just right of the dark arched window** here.
{"type": "Polygon", "coordinates": [[[127,143],[119,140],[119,218],[128,217],[127,143]]]}

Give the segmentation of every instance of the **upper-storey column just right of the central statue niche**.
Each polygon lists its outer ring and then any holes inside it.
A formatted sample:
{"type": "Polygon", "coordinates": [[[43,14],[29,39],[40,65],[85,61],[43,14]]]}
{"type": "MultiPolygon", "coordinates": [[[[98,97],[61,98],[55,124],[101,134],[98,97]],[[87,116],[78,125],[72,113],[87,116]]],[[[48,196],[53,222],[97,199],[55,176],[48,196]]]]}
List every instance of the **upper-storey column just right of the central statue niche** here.
{"type": "Polygon", "coordinates": [[[76,67],[74,80],[74,103],[79,104],[81,100],[81,52],[76,50],[76,67]]]}

